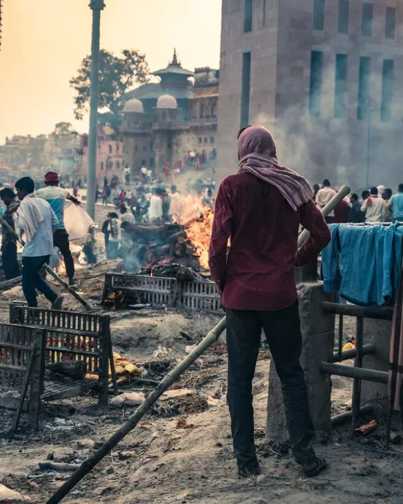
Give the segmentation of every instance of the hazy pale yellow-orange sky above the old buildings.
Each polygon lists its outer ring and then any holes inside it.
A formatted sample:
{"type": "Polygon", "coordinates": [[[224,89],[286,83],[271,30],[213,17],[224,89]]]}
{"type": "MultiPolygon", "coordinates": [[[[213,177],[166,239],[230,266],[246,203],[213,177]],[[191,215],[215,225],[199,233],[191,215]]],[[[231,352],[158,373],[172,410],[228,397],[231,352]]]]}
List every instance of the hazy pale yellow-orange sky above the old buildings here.
{"type": "MultiPolygon", "coordinates": [[[[0,144],[6,136],[50,133],[75,121],[69,86],[90,52],[89,0],[3,0],[0,144]]],[[[182,65],[219,68],[220,0],[105,0],[101,48],[138,49],[150,70],[164,68],[174,46],[182,65]]]]}

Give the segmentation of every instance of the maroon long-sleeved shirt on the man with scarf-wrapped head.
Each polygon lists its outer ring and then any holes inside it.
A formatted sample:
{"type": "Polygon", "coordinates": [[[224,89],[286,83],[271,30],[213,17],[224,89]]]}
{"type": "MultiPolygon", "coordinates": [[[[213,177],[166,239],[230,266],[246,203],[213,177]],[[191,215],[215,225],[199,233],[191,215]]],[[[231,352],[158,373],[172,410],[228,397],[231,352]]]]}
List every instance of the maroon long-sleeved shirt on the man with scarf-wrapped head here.
{"type": "Polygon", "coordinates": [[[250,173],[230,175],[217,194],[209,251],[222,304],[238,310],[290,306],[297,299],[295,264],[315,258],[330,240],[313,201],[295,212],[271,184],[250,173]],[[311,235],[297,251],[299,224],[311,235]]]}

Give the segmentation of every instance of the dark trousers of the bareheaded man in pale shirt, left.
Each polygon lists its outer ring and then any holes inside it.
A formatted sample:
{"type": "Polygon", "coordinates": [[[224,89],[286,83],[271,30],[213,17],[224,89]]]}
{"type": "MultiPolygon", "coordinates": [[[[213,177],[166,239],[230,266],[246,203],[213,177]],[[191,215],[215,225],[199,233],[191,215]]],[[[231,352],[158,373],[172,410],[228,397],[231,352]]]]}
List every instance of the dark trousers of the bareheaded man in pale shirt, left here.
{"type": "Polygon", "coordinates": [[[37,258],[22,258],[22,290],[29,307],[36,308],[38,305],[37,291],[35,289],[38,289],[52,303],[57,299],[57,293],[52,291],[45,280],[39,275],[39,270],[49,259],[49,255],[37,258]]]}

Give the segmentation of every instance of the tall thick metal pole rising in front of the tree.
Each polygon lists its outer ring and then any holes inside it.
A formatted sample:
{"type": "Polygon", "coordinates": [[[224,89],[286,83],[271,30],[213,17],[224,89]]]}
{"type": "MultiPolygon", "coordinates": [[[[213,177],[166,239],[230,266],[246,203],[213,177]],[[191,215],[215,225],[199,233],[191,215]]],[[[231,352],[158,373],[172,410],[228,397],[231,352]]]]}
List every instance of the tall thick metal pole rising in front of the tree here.
{"type": "Polygon", "coordinates": [[[104,0],[91,0],[92,40],[91,40],[91,89],[90,89],[90,132],[88,135],[88,175],[87,212],[95,218],[95,191],[97,175],[97,129],[98,129],[98,89],[99,89],[99,32],[101,10],[104,0]]]}

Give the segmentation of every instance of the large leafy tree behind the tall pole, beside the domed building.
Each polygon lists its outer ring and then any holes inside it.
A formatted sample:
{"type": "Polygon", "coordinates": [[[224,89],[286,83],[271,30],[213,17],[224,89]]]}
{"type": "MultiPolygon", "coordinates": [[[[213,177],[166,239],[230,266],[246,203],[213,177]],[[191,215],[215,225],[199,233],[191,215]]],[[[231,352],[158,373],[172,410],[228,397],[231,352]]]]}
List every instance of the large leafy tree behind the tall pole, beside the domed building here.
{"type": "MultiPolygon", "coordinates": [[[[70,86],[76,91],[75,118],[83,119],[90,106],[90,74],[91,57],[87,56],[81,62],[76,77],[70,80],[70,86]]],[[[148,64],[146,56],[134,49],[125,49],[121,55],[102,49],[99,52],[99,110],[107,110],[99,114],[103,124],[110,122],[117,130],[125,95],[135,84],[148,82],[148,64]]]]}

